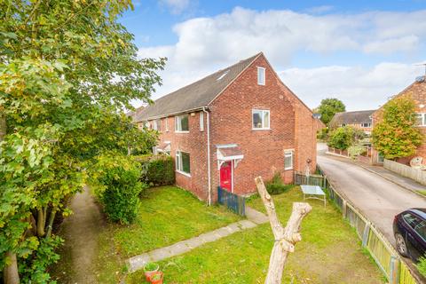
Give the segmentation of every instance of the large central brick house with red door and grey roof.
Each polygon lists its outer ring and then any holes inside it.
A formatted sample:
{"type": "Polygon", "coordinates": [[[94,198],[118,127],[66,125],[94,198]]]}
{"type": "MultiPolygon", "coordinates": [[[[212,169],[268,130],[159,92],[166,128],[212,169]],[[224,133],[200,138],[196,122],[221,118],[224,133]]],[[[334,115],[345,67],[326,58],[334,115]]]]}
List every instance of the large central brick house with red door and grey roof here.
{"type": "Polygon", "coordinates": [[[319,124],[263,53],[157,99],[135,118],[160,131],[155,152],[176,160],[176,183],[217,200],[217,185],[256,192],[254,179],[316,168],[319,124]]]}

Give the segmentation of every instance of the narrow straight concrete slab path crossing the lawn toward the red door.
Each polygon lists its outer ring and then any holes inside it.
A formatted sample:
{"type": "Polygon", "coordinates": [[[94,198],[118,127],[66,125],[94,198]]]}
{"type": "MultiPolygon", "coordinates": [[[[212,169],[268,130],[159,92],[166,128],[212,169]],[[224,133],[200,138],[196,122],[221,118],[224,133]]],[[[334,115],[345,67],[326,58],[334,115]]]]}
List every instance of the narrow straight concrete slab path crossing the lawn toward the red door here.
{"type": "Polygon", "coordinates": [[[148,251],[142,255],[133,256],[129,259],[130,272],[135,272],[142,269],[148,262],[157,262],[162,259],[169,258],[172,256],[178,256],[190,251],[193,248],[200,247],[201,245],[222,239],[230,234],[241,232],[242,230],[256,227],[256,225],[263,224],[269,221],[263,213],[256,211],[246,206],[246,217],[247,220],[241,220],[209,233],[202,233],[201,235],[194,237],[189,240],[179,241],[171,246],[164,248],[157,248],[148,251]]]}

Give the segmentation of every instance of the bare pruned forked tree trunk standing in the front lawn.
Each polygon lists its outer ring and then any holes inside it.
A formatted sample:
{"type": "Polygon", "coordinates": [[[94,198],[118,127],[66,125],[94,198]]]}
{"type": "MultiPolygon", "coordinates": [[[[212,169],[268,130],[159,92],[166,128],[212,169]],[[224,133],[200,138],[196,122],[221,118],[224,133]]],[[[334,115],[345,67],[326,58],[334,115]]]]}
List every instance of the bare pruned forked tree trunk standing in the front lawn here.
{"type": "Polygon", "coordinates": [[[283,228],[279,218],[277,217],[272,197],[264,187],[262,177],[256,177],[255,182],[257,192],[262,198],[262,201],[264,201],[264,208],[268,214],[272,233],[275,239],[271,258],[269,259],[268,275],[266,276],[264,283],[280,284],[288,253],[295,251],[295,244],[297,241],[302,241],[302,236],[299,233],[300,225],[302,224],[304,217],[311,212],[312,207],[308,203],[293,203],[293,211],[288,219],[287,226],[283,228]]]}

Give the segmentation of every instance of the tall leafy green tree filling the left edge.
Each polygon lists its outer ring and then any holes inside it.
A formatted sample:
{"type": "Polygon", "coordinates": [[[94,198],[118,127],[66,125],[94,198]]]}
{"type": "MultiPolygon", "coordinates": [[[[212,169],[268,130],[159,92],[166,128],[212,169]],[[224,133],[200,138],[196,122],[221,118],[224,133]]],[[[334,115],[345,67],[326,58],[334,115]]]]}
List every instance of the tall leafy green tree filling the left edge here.
{"type": "MultiPolygon", "coordinates": [[[[165,59],[138,59],[117,22],[130,0],[0,1],[0,269],[49,281],[51,233],[96,156],[155,141],[122,112],[150,102],[165,59]],[[129,135],[128,135],[129,134],[129,135]],[[18,265],[19,263],[19,265],[18,265]],[[18,267],[19,266],[19,267],[18,267]],[[19,268],[19,269],[18,269],[19,268]]],[[[55,240],[55,241],[53,241],[55,240]]]]}

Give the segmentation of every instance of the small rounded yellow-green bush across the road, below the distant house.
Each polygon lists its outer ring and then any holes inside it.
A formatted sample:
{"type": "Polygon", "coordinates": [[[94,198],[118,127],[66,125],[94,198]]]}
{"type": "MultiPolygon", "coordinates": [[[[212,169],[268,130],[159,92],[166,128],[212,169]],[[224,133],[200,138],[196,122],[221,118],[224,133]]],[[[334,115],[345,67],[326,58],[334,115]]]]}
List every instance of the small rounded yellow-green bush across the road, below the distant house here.
{"type": "Polygon", "coordinates": [[[340,150],[346,150],[350,146],[354,146],[360,139],[364,137],[364,131],[347,125],[339,127],[330,133],[327,146],[340,150]]]}

